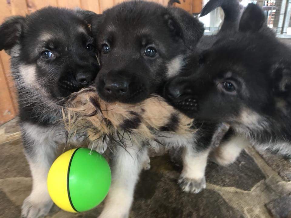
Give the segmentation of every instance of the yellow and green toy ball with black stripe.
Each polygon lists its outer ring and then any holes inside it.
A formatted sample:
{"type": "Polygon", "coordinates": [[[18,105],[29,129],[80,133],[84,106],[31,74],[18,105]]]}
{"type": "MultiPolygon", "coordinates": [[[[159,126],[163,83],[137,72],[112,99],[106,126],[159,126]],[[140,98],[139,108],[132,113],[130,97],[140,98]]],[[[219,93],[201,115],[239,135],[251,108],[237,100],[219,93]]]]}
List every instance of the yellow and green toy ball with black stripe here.
{"type": "Polygon", "coordinates": [[[62,210],[91,210],[104,200],[111,183],[105,158],[88,148],[76,148],[59,156],[48,174],[48,190],[62,210]]]}

